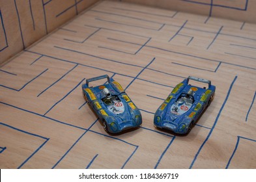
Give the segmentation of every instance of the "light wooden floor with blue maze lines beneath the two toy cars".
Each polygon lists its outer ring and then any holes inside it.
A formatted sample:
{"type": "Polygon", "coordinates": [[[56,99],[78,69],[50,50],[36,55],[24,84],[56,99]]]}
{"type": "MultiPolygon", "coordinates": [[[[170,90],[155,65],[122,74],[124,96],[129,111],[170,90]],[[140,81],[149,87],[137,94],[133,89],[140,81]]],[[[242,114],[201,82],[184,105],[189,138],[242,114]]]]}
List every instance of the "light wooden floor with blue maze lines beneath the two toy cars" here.
{"type": "Polygon", "coordinates": [[[0,168],[256,168],[256,25],[104,1],[0,70],[0,168]],[[143,124],[108,135],[81,84],[108,74],[143,124]],[[154,112],[193,75],[216,85],[187,136],[154,112]]]}

